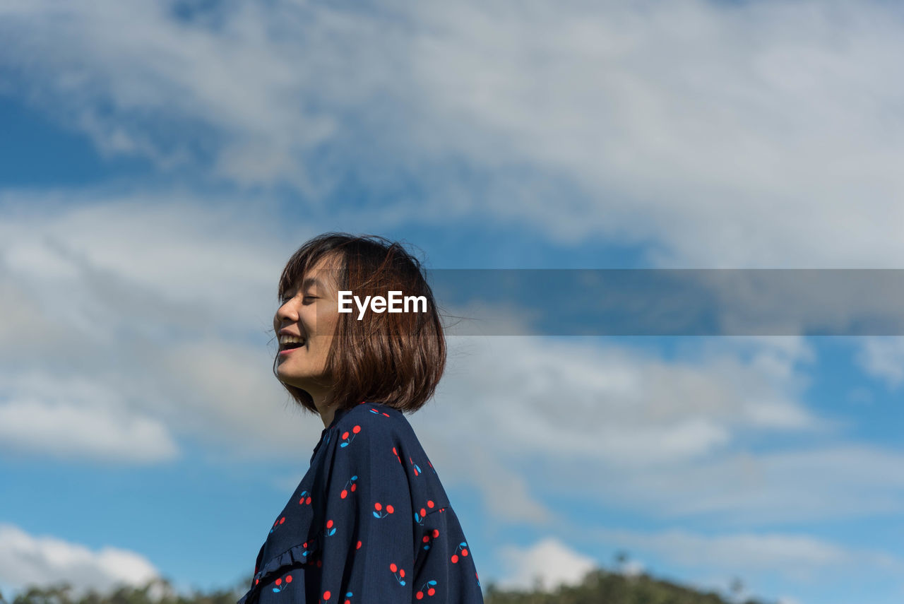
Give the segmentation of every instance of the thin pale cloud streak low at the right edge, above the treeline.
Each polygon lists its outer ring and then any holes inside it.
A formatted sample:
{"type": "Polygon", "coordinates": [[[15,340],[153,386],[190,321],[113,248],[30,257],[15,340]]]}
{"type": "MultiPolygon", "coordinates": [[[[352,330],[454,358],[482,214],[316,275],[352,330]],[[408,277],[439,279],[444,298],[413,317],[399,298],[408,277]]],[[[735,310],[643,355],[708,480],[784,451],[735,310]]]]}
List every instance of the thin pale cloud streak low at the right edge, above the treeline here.
{"type": "Polygon", "coordinates": [[[658,518],[696,517],[720,526],[894,517],[904,455],[870,445],[734,452],[693,463],[631,468],[550,464],[534,476],[550,489],[583,486],[583,494],[658,518]],[[584,477],[593,475],[595,480],[584,477]],[[617,485],[617,489],[611,488],[617,485]]]}

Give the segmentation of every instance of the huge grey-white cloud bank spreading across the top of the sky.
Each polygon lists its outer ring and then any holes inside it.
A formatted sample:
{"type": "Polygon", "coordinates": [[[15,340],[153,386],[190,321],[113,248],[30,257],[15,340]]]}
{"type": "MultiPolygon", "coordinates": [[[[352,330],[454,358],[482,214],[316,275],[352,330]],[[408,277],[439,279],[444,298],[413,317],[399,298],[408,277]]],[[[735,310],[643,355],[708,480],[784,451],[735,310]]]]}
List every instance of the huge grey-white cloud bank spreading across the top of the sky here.
{"type": "Polygon", "coordinates": [[[0,10],[19,33],[9,91],[108,153],[314,200],[349,165],[374,190],[428,175],[388,221],[486,212],[561,241],[657,241],[662,265],[904,255],[904,86],[887,77],[904,24],[888,3],[0,10]],[[450,157],[485,187],[444,172],[450,157]]]}

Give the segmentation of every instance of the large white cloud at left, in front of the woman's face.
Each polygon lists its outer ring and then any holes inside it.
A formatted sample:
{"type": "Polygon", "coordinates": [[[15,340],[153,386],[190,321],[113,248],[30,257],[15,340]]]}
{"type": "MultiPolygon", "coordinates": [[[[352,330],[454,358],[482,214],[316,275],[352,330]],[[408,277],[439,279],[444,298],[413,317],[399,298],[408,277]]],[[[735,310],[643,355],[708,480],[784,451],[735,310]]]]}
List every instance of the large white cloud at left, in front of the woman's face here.
{"type": "Polygon", "coordinates": [[[236,455],[313,448],[319,419],[285,421],[272,375],[294,247],[278,249],[266,209],[246,221],[230,204],[106,194],[6,195],[43,203],[8,205],[0,225],[0,310],[15,318],[0,327],[3,448],[127,463],[174,458],[174,433],[236,455]]]}

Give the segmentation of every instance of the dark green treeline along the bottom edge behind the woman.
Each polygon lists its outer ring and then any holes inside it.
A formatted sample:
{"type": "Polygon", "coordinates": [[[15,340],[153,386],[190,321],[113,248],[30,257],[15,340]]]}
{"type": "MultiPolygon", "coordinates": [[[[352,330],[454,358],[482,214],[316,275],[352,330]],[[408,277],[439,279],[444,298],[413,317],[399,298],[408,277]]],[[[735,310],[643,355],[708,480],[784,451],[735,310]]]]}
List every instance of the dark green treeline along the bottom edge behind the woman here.
{"type": "MultiPolygon", "coordinates": [[[[89,591],[78,597],[72,595],[68,585],[32,587],[23,590],[12,601],[0,594],[0,604],[235,604],[247,590],[250,580],[242,581],[230,589],[210,592],[195,591],[191,595],[175,593],[171,583],[157,579],[144,587],[122,587],[101,595],[89,591]]],[[[711,591],[703,592],[673,583],[654,579],[642,573],[626,575],[603,569],[589,571],[578,585],[565,586],[551,591],[540,589],[535,582],[531,590],[502,590],[489,582],[485,585],[485,604],[738,604],[739,599],[724,599],[711,591]]],[[[742,590],[740,580],[735,580],[731,590],[742,590]]],[[[747,599],[742,604],[771,604],[765,600],[747,599]]]]}

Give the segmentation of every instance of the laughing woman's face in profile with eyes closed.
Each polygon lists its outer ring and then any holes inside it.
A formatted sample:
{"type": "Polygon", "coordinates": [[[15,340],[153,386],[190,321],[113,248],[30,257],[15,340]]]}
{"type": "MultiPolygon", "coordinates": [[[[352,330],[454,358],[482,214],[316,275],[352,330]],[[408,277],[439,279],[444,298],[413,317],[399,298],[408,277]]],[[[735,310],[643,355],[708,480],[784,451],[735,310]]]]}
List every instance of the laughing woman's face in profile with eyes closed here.
{"type": "Polygon", "coordinates": [[[325,373],[326,355],[339,318],[334,272],[329,270],[334,267],[335,260],[318,260],[300,283],[283,293],[283,305],[273,318],[273,328],[280,339],[279,380],[306,391],[317,402],[330,389],[331,376],[325,373]],[[284,334],[300,336],[302,345],[287,348],[282,344],[284,334]]]}

